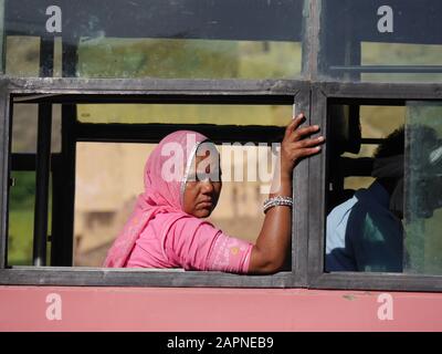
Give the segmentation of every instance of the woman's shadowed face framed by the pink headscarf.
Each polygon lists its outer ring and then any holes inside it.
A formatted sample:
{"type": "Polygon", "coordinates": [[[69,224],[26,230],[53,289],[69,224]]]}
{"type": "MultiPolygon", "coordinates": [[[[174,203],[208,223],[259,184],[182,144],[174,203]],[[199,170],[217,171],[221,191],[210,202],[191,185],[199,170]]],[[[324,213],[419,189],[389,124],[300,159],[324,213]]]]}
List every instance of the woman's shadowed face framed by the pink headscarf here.
{"type": "Polygon", "coordinates": [[[210,150],[198,149],[183,195],[183,209],[197,218],[209,217],[221,192],[220,157],[214,145],[210,150]]]}

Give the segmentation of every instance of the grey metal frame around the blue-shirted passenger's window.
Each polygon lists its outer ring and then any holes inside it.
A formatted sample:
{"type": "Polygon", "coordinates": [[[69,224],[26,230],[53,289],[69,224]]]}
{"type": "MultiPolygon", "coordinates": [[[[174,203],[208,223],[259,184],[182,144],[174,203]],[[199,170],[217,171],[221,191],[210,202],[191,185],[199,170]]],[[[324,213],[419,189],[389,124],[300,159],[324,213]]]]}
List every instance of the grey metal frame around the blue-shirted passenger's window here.
{"type": "MultiPolygon", "coordinates": [[[[441,101],[442,84],[388,83],[314,83],[312,85],[312,124],[327,132],[327,104],[358,103],[376,105],[406,105],[407,101],[441,101]]],[[[312,289],[442,291],[442,275],[382,273],[382,272],[325,272],[325,196],[326,156],[309,158],[308,214],[308,287],[312,289]],[[319,173],[315,173],[319,171],[319,173]]]]}

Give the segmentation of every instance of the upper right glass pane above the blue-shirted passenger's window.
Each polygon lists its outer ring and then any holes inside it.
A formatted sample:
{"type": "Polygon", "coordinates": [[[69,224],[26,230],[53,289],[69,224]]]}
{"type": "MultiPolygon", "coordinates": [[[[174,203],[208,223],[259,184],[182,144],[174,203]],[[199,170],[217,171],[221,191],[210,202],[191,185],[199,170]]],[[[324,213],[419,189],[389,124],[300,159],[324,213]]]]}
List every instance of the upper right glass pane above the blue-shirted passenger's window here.
{"type": "Polygon", "coordinates": [[[320,77],[441,82],[441,14],[439,0],[323,1],[320,77]]]}

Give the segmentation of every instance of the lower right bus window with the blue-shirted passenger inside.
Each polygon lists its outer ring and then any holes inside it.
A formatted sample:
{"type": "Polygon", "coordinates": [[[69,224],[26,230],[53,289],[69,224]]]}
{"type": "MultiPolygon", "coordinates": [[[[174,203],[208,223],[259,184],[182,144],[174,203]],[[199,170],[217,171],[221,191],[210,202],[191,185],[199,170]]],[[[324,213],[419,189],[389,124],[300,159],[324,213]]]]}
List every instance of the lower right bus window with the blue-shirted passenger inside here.
{"type": "Polygon", "coordinates": [[[441,274],[441,106],[359,106],[350,142],[341,112],[329,107],[326,271],[441,274]]]}

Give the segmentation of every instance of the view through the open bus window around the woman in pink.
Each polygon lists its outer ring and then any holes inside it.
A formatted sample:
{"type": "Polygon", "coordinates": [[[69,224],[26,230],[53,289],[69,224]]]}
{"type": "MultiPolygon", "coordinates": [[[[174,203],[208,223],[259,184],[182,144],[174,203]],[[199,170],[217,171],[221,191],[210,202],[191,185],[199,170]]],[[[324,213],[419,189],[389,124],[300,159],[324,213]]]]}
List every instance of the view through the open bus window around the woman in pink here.
{"type": "Polygon", "coordinates": [[[276,158],[270,142],[281,142],[292,105],[77,104],[64,116],[66,110],[61,104],[14,100],[18,103],[13,104],[12,114],[9,266],[101,267],[127,221],[134,200],[144,190],[146,159],[164,136],[152,132],[161,127],[209,127],[213,132],[224,128],[224,135],[214,136],[221,153],[223,188],[209,221],[238,238],[254,241],[257,237],[264,217],[261,206],[269,195],[276,158]],[[48,124],[51,133],[46,131],[46,135],[41,129],[49,128],[48,124]],[[232,135],[232,128],[239,131],[232,135]],[[250,142],[245,139],[248,129],[254,132],[250,142]],[[134,135],[135,132],[138,133],[134,135]],[[74,134],[67,137],[74,139],[74,156],[66,153],[66,143],[62,142],[66,134],[74,134]],[[240,140],[235,142],[234,136],[240,140]],[[49,185],[40,186],[48,198],[39,205],[39,212],[46,210],[48,218],[38,218],[35,225],[39,142],[40,149],[42,143],[50,143],[50,150],[40,152],[42,156],[50,154],[50,165],[49,185]],[[65,167],[66,156],[75,162],[72,171],[65,167]],[[75,180],[72,190],[66,180],[75,180]],[[72,237],[63,229],[70,208],[61,207],[71,194],[72,237]],[[39,240],[45,240],[44,246],[39,240]],[[45,262],[41,260],[43,254],[45,262]]]}

